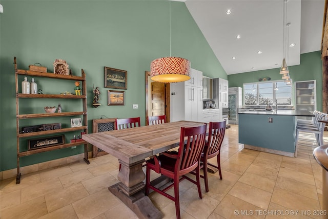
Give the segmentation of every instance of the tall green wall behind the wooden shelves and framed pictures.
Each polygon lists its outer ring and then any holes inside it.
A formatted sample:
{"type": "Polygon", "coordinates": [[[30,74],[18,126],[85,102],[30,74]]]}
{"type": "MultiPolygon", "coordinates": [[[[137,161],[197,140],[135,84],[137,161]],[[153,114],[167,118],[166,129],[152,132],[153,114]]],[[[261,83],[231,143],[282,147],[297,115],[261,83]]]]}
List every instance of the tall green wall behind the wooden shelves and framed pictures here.
{"type": "MultiPolygon", "coordinates": [[[[107,117],[140,116],[145,124],[145,71],[158,57],[169,56],[169,1],[1,1],[0,14],[0,170],[16,168],[16,113],[13,58],[19,69],[41,63],[53,71],[52,63],[63,58],[74,75],[87,74],[88,125],[107,117]],[[104,66],[128,71],[125,106],[107,106],[104,66]],[[92,107],[94,86],[100,88],[98,108],[92,107]],[[139,109],[132,109],[138,104],[139,109]]],[[[171,55],[188,58],[192,68],[209,77],[228,78],[212,49],[190,15],[185,3],[171,2],[171,55]]],[[[30,81],[31,77],[29,77],[30,81]]],[[[23,78],[19,78],[20,81],[23,78]]],[[[36,78],[47,93],[74,92],[74,83],[36,78]],[[70,89],[71,86],[71,89],[70,89]]],[[[20,86],[19,86],[20,87],[20,86]]],[[[75,111],[80,104],[60,99],[24,99],[24,110],[42,112],[44,106],[75,111]]],[[[58,122],[68,118],[23,120],[23,125],[58,122]]],[[[66,136],[68,139],[71,136],[66,136]]],[[[23,143],[22,143],[23,144],[23,143]]],[[[26,140],[25,140],[26,144],[26,140]]],[[[83,152],[61,149],[20,159],[21,166],[45,162],[83,152]]]]}

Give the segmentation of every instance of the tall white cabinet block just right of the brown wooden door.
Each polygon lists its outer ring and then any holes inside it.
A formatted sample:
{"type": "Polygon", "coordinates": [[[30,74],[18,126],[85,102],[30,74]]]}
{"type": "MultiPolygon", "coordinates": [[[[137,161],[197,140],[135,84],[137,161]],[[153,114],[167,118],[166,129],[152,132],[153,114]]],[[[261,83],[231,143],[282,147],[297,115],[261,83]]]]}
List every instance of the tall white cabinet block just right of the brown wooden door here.
{"type": "Polygon", "coordinates": [[[201,85],[202,72],[195,69],[192,69],[191,72],[193,72],[193,77],[191,79],[194,83],[187,81],[170,84],[171,122],[180,120],[198,122],[198,117],[201,117],[203,105],[201,85]]]}

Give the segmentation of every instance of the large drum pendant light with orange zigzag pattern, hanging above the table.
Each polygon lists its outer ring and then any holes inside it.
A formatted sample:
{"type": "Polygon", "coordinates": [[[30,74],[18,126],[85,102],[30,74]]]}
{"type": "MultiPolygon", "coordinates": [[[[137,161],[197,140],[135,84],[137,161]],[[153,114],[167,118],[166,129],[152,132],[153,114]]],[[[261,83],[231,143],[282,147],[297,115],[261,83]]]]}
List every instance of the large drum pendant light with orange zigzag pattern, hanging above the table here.
{"type": "Polygon", "coordinates": [[[170,1],[170,56],[150,63],[150,76],[155,82],[185,82],[190,79],[191,63],[186,58],[171,56],[171,1],[170,1]]]}

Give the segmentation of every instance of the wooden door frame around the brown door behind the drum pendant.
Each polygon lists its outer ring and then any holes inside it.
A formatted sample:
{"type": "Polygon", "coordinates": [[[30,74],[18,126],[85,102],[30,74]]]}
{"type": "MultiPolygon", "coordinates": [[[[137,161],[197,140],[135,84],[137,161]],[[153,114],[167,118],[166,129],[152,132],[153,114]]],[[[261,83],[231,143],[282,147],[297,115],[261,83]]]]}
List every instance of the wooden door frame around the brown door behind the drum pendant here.
{"type": "MultiPolygon", "coordinates": [[[[148,126],[148,102],[149,102],[149,96],[148,96],[148,85],[151,83],[150,79],[150,71],[145,71],[145,101],[146,101],[146,126],[148,126]]],[[[166,115],[166,122],[170,122],[170,83],[165,83],[165,115],[166,115]]]]}

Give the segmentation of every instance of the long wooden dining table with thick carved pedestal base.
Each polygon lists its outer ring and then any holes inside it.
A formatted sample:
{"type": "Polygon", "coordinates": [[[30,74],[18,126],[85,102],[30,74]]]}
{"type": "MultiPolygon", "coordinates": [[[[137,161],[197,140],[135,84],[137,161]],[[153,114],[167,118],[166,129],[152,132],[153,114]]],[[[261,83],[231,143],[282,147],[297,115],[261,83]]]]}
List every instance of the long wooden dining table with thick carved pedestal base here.
{"type": "Polygon", "coordinates": [[[144,194],[145,159],[179,146],[181,127],[203,123],[178,121],[152,126],[82,135],[83,140],[118,158],[119,183],[108,189],[139,218],[162,218],[162,213],[144,194]]]}

